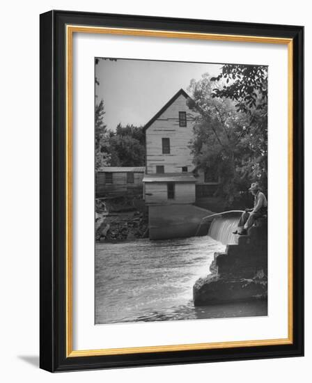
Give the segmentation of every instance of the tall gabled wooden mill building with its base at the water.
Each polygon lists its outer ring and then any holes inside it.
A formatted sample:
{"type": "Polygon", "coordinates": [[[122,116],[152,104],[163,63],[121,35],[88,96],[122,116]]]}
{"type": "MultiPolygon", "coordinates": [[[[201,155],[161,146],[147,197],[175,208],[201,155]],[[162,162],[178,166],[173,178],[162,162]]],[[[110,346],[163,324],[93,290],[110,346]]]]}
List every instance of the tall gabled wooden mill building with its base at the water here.
{"type": "Polygon", "coordinates": [[[198,112],[189,108],[188,100],[189,95],[180,89],[144,127],[143,184],[151,239],[194,235],[209,214],[194,206],[196,196],[208,194],[218,183],[193,162],[189,144],[198,112]]]}

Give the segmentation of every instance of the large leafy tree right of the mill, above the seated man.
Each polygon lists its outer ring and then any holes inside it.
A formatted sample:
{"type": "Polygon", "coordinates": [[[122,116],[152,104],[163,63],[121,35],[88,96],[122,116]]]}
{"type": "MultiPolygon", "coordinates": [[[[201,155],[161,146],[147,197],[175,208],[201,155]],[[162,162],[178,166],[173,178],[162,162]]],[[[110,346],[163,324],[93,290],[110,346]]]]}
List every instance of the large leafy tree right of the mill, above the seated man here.
{"type": "MultiPolygon", "coordinates": [[[[218,76],[212,81],[206,73],[199,81],[191,81],[189,107],[199,113],[190,148],[198,168],[217,172],[220,185],[216,193],[233,206],[250,182],[258,180],[266,189],[267,109],[263,89],[256,90],[256,106],[244,91],[235,99],[238,85],[228,91],[233,86],[228,73],[225,80],[218,76]]],[[[242,79],[242,72],[240,76],[242,79]]],[[[242,79],[242,87],[245,83],[242,79]]]]}

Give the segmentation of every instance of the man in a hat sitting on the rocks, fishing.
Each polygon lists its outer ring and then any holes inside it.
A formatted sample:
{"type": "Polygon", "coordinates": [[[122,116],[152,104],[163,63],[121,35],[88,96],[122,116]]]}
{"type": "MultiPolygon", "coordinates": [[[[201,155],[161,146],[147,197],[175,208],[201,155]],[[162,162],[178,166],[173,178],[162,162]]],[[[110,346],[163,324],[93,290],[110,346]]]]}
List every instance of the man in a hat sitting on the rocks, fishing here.
{"type": "Polygon", "coordinates": [[[237,230],[233,234],[247,235],[247,231],[253,226],[256,219],[263,217],[267,214],[267,198],[263,192],[260,192],[258,182],[254,182],[249,187],[251,194],[254,196],[253,209],[246,209],[240,217],[240,221],[237,224],[237,230]]]}

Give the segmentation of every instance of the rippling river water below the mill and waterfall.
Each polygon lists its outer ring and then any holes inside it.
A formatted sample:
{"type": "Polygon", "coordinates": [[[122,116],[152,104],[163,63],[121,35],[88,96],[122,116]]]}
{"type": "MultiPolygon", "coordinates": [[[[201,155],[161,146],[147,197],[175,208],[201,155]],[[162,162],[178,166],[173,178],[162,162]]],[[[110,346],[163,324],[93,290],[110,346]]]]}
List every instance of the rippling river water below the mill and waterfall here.
{"type": "Polygon", "coordinates": [[[266,315],[262,302],[194,308],[195,281],[224,249],[207,236],[96,244],[95,323],[266,315]]]}

